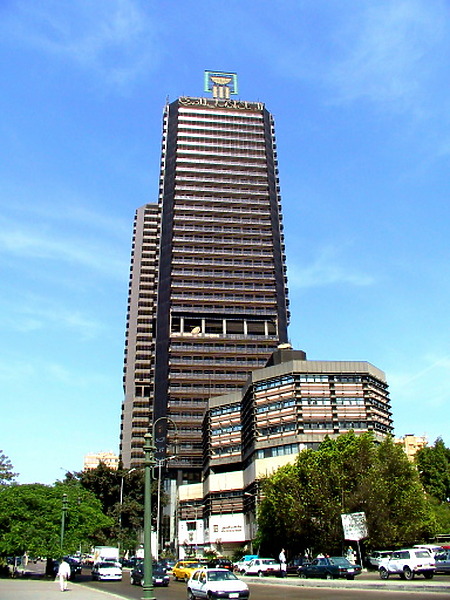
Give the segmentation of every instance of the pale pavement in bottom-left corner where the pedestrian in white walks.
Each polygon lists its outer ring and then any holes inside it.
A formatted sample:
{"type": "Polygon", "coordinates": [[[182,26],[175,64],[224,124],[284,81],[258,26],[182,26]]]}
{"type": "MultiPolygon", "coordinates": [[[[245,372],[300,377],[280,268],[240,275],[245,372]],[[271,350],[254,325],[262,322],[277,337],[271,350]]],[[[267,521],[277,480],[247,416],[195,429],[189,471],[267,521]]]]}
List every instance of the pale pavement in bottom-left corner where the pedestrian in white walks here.
{"type": "Polygon", "coordinates": [[[69,581],[67,592],[61,592],[59,582],[48,579],[0,579],[1,600],[49,600],[51,598],[66,600],[123,600],[104,590],[94,590],[86,585],[69,581]]]}

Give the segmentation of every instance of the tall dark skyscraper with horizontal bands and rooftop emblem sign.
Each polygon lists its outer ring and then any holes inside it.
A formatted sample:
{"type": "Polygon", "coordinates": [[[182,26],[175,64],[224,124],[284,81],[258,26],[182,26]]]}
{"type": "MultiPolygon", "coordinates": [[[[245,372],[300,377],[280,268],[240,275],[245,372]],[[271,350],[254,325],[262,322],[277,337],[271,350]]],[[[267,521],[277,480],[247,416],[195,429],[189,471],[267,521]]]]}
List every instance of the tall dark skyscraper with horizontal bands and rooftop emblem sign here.
{"type": "Polygon", "coordinates": [[[139,466],[157,423],[157,457],[175,454],[179,483],[200,478],[208,399],[288,341],[273,118],[230,99],[234,73],[207,71],[205,91],[165,107],[159,199],[136,211],[128,300],[121,457],[139,466]]]}

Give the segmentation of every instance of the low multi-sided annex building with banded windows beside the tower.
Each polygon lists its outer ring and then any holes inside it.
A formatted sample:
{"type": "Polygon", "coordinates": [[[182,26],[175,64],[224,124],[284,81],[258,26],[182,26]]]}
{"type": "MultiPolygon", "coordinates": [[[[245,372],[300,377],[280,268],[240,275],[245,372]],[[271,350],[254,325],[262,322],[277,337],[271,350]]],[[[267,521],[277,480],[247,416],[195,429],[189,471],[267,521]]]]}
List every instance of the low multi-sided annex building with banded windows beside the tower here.
{"type": "Polygon", "coordinates": [[[211,398],[203,481],[178,490],[180,556],[253,550],[259,480],[350,430],[379,441],[393,431],[385,374],[368,362],[308,361],[279,348],[240,392],[211,398]]]}

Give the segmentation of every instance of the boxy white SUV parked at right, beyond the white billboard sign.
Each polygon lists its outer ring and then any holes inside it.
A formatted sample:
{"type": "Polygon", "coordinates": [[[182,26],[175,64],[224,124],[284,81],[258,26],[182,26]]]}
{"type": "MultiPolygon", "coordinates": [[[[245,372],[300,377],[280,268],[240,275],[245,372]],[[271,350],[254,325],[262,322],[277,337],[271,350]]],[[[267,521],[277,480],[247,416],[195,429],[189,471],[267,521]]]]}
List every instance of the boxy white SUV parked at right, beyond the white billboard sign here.
{"type": "Polygon", "coordinates": [[[432,579],[435,567],[434,557],[429,550],[404,548],[384,558],[378,571],[381,579],[389,579],[390,575],[400,575],[401,579],[414,579],[415,575],[423,575],[425,579],[432,579]]]}

